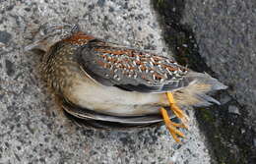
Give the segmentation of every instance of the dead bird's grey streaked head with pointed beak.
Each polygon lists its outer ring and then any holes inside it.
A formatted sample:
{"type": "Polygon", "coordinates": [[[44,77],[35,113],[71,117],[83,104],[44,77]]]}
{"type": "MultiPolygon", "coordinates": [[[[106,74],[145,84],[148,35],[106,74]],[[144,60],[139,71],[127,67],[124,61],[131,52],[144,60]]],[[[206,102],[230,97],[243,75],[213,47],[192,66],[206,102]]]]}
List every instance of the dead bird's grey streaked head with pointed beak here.
{"type": "Polygon", "coordinates": [[[44,24],[34,33],[33,41],[25,47],[25,51],[39,50],[47,52],[53,44],[71,36],[79,29],[78,25],[44,24]]]}

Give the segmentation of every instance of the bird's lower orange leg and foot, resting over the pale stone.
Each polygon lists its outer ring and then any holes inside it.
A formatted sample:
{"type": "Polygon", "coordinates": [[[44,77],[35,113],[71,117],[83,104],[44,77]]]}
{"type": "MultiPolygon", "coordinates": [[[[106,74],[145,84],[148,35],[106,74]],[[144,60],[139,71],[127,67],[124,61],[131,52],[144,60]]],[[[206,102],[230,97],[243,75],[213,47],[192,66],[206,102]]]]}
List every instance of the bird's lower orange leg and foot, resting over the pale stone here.
{"type": "Polygon", "coordinates": [[[178,131],[175,127],[184,128],[182,124],[176,124],[169,120],[168,113],[166,109],[160,108],[160,113],[165,123],[166,128],[169,130],[171,136],[177,141],[180,142],[180,139],[177,137],[185,137],[180,131],[178,131]]]}

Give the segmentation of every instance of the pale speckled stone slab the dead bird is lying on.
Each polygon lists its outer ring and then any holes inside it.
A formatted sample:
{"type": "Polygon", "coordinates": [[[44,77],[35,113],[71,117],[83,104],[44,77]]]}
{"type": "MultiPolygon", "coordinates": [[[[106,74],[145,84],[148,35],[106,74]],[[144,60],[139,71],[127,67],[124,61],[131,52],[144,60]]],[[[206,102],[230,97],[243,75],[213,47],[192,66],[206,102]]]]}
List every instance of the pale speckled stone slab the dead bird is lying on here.
{"type": "Polygon", "coordinates": [[[129,132],[76,127],[39,80],[41,56],[23,51],[39,25],[68,22],[97,37],[166,55],[149,0],[10,0],[0,1],[0,13],[1,163],[210,163],[193,112],[181,145],[164,127],[129,132]]]}

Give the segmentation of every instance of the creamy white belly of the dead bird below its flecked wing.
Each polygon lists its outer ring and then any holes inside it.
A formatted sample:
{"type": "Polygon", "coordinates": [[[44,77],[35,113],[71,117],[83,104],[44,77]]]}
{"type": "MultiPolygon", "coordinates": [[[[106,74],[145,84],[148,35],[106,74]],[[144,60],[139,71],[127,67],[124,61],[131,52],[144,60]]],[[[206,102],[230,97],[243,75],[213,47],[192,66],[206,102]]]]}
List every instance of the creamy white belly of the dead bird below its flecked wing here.
{"type": "Polygon", "coordinates": [[[158,113],[162,93],[141,93],[125,91],[114,86],[105,86],[91,79],[83,78],[73,82],[68,99],[81,107],[97,112],[128,116],[158,113]]]}

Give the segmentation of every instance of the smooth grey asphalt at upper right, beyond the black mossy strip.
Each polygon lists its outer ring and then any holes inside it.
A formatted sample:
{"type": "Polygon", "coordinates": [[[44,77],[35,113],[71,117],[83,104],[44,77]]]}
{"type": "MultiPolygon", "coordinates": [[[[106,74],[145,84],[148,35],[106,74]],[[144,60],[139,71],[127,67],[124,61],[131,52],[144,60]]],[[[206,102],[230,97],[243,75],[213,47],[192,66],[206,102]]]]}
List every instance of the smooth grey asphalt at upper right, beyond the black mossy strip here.
{"type": "Polygon", "coordinates": [[[183,23],[193,28],[207,65],[246,107],[247,125],[256,132],[256,1],[189,0],[183,23]]]}

